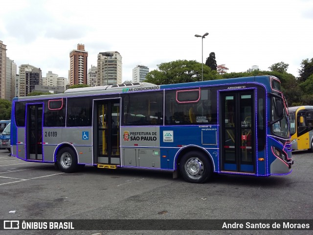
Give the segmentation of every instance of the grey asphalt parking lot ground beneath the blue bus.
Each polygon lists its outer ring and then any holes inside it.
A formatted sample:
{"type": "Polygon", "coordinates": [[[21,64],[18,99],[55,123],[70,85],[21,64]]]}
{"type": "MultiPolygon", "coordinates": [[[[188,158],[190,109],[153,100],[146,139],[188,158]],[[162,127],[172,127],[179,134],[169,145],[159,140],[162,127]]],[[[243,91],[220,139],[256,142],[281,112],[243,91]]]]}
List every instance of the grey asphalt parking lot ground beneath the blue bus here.
{"type": "MultiPolygon", "coordinates": [[[[173,179],[171,172],[143,169],[86,166],[80,172],[67,174],[53,164],[24,162],[0,150],[0,219],[313,219],[313,154],[297,152],[293,159],[293,172],[287,176],[215,175],[207,183],[191,184],[182,178],[173,179]]],[[[310,231],[268,232],[310,234],[310,231]]],[[[225,233],[266,234],[266,231],[213,231],[225,233]]],[[[9,233],[0,231],[0,234],[9,233]]],[[[148,231],[10,231],[10,234],[148,234],[148,231]]],[[[162,234],[203,232],[162,231],[162,234]]]]}

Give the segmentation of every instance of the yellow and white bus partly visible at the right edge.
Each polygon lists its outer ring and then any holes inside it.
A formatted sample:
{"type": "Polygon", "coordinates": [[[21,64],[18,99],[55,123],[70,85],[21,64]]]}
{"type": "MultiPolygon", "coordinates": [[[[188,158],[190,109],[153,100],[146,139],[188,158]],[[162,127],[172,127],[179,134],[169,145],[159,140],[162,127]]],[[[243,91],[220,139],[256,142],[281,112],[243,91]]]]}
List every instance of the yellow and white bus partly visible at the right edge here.
{"type": "Polygon", "coordinates": [[[289,108],[291,149],[313,152],[313,106],[289,108]]]}

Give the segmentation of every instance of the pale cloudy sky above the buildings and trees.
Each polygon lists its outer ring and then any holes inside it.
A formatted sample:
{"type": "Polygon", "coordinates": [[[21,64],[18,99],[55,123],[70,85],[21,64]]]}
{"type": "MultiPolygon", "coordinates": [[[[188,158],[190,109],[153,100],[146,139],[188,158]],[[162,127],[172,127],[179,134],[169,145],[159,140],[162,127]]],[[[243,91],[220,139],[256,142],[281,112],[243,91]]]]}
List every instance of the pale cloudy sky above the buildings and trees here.
{"type": "Polygon", "coordinates": [[[203,62],[215,52],[228,72],[313,58],[313,0],[0,0],[0,41],[17,66],[68,77],[69,52],[84,44],[88,68],[118,51],[123,81],[136,65],[203,62]]]}

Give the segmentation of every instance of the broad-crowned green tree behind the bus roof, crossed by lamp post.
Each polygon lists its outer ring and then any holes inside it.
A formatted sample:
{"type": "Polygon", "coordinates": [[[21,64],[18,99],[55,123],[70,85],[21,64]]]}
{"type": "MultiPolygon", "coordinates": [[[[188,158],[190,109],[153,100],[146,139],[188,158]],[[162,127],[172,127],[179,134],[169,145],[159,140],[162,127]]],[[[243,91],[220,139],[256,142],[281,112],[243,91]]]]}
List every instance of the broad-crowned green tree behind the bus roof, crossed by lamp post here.
{"type": "MultiPolygon", "coordinates": [[[[145,82],[156,85],[201,81],[202,64],[195,60],[177,60],[157,65],[158,70],[150,71],[145,82]]],[[[203,65],[203,80],[218,79],[216,71],[203,65]]]]}

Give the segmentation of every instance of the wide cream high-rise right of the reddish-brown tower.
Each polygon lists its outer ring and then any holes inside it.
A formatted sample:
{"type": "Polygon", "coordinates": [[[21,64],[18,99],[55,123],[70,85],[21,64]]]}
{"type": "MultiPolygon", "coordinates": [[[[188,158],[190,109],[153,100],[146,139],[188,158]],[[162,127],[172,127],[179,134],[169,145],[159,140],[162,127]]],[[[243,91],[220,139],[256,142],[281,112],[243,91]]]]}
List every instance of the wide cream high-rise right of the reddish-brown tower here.
{"type": "Polygon", "coordinates": [[[122,56],[117,51],[100,52],[96,77],[96,86],[121,84],[122,56]]]}

